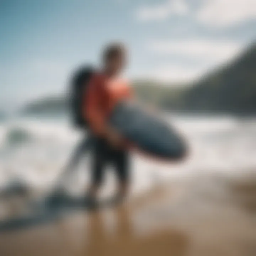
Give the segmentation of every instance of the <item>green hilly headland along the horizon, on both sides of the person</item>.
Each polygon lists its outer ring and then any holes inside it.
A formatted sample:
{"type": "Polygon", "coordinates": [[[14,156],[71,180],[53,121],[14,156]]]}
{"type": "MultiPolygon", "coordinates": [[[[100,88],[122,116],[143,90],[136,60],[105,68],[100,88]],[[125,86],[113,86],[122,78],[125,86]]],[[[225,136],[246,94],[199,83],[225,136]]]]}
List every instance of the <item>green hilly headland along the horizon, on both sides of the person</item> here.
{"type": "MultiPolygon", "coordinates": [[[[161,84],[153,80],[133,81],[142,101],[165,110],[192,112],[256,113],[256,44],[233,63],[219,67],[193,85],[161,84]]],[[[46,97],[34,101],[23,113],[67,111],[66,97],[46,97]]]]}

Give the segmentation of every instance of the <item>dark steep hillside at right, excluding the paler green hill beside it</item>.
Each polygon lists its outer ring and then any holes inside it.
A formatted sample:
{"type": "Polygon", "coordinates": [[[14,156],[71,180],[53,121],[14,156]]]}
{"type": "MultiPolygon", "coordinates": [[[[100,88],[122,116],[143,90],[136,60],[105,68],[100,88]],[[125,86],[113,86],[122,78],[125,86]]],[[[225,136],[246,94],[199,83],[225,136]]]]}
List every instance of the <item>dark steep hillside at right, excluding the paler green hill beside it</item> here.
{"type": "Polygon", "coordinates": [[[184,95],[184,109],[256,113],[256,44],[207,74],[184,95]]]}

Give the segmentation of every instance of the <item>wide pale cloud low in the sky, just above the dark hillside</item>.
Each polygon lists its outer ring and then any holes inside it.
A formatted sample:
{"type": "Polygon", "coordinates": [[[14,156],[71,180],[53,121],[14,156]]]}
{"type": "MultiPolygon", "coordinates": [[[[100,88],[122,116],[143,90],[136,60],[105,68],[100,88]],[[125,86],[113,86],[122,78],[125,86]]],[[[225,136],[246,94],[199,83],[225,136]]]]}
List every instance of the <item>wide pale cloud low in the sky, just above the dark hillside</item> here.
{"type": "Polygon", "coordinates": [[[148,49],[159,57],[173,56],[179,58],[175,63],[164,64],[153,70],[150,75],[163,81],[187,82],[200,78],[208,70],[235,58],[245,45],[233,41],[209,39],[190,39],[187,41],[154,41],[148,49]],[[182,57],[182,58],[181,58],[182,57]],[[189,59],[189,62],[186,61],[189,59]],[[191,62],[195,63],[191,66],[191,62]],[[188,66],[188,63],[190,65],[188,66]]]}

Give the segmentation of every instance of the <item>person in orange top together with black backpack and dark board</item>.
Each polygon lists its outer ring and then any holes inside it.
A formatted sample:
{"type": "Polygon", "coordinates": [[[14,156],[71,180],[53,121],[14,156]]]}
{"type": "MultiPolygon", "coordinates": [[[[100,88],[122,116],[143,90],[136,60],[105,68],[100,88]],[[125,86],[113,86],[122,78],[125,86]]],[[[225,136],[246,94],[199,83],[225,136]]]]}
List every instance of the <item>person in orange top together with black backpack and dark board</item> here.
{"type": "MultiPolygon", "coordinates": [[[[75,150],[62,177],[67,177],[87,151],[92,151],[91,184],[86,197],[86,202],[89,201],[92,206],[96,202],[106,166],[110,163],[114,166],[118,179],[114,202],[127,196],[127,149],[131,148],[130,145],[153,157],[168,161],[180,161],[187,152],[186,143],[175,129],[143,112],[137,108],[136,103],[131,107],[130,102],[134,103],[133,92],[128,82],[121,78],[126,60],[127,52],[123,44],[110,44],[103,50],[101,68],[95,70],[82,67],[72,82],[71,106],[74,123],[85,131],[86,137],[75,150]]],[[[58,191],[59,189],[54,194],[58,195],[58,191]]],[[[62,198],[61,189],[60,195],[62,198]]]]}

